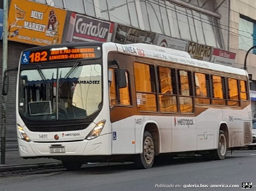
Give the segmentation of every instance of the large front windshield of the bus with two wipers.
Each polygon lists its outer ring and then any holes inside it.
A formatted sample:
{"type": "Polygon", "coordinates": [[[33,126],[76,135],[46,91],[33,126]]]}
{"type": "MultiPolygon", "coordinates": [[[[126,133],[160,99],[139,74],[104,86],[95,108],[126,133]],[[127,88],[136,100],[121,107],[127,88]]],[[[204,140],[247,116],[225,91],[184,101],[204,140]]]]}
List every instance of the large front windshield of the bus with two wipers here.
{"type": "Polygon", "coordinates": [[[19,112],[27,120],[84,119],[98,111],[101,102],[100,64],[24,68],[20,72],[19,112]]]}

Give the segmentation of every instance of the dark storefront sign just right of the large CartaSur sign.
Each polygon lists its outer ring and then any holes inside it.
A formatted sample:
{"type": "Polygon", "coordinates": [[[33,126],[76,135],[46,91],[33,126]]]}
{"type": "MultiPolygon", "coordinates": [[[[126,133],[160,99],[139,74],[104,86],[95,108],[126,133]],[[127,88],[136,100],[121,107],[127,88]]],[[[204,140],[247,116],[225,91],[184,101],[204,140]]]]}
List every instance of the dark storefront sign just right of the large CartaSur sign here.
{"type": "Polygon", "coordinates": [[[114,42],[119,44],[148,43],[153,44],[155,33],[117,25],[114,42]]]}

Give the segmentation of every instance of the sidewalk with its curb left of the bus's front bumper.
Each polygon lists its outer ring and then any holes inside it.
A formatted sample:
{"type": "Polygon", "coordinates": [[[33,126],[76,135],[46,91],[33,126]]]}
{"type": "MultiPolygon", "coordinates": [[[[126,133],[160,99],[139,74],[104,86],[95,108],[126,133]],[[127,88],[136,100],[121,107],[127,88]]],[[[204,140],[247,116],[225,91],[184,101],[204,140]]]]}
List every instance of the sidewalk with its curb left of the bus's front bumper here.
{"type": "Polygon", "coordinates": [[[0,172],[54,166],[61,166],[61,161],[47,158],[23,159],[19,157],[18,151],[6,151],[5,164],[0,164],[0,172]]]}

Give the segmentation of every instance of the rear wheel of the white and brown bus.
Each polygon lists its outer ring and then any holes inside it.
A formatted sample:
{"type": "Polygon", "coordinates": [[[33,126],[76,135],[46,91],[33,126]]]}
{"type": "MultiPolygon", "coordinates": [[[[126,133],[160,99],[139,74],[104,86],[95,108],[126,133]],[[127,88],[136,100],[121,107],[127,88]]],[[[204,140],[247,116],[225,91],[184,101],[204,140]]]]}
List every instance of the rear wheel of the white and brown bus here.
{"type": "Polygon", "coordinates": [[[206,160],[224,160],[227,154],[227,138],[224,131],[219,131],[218,149],[211,150],[209,153],[203,155],[206,160]]]}

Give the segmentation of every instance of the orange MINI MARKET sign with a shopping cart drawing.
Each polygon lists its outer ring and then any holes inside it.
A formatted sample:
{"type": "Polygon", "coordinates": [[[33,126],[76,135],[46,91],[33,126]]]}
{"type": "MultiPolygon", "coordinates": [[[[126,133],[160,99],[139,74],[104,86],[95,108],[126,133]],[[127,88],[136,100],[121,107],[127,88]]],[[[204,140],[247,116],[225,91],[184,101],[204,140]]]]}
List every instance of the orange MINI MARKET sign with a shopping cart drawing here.
{"type": "Polygon", "coordinates": [[[27,0],[12,0],[9,40],[34,45],[61,43],[66,11],[27,0]]]}

